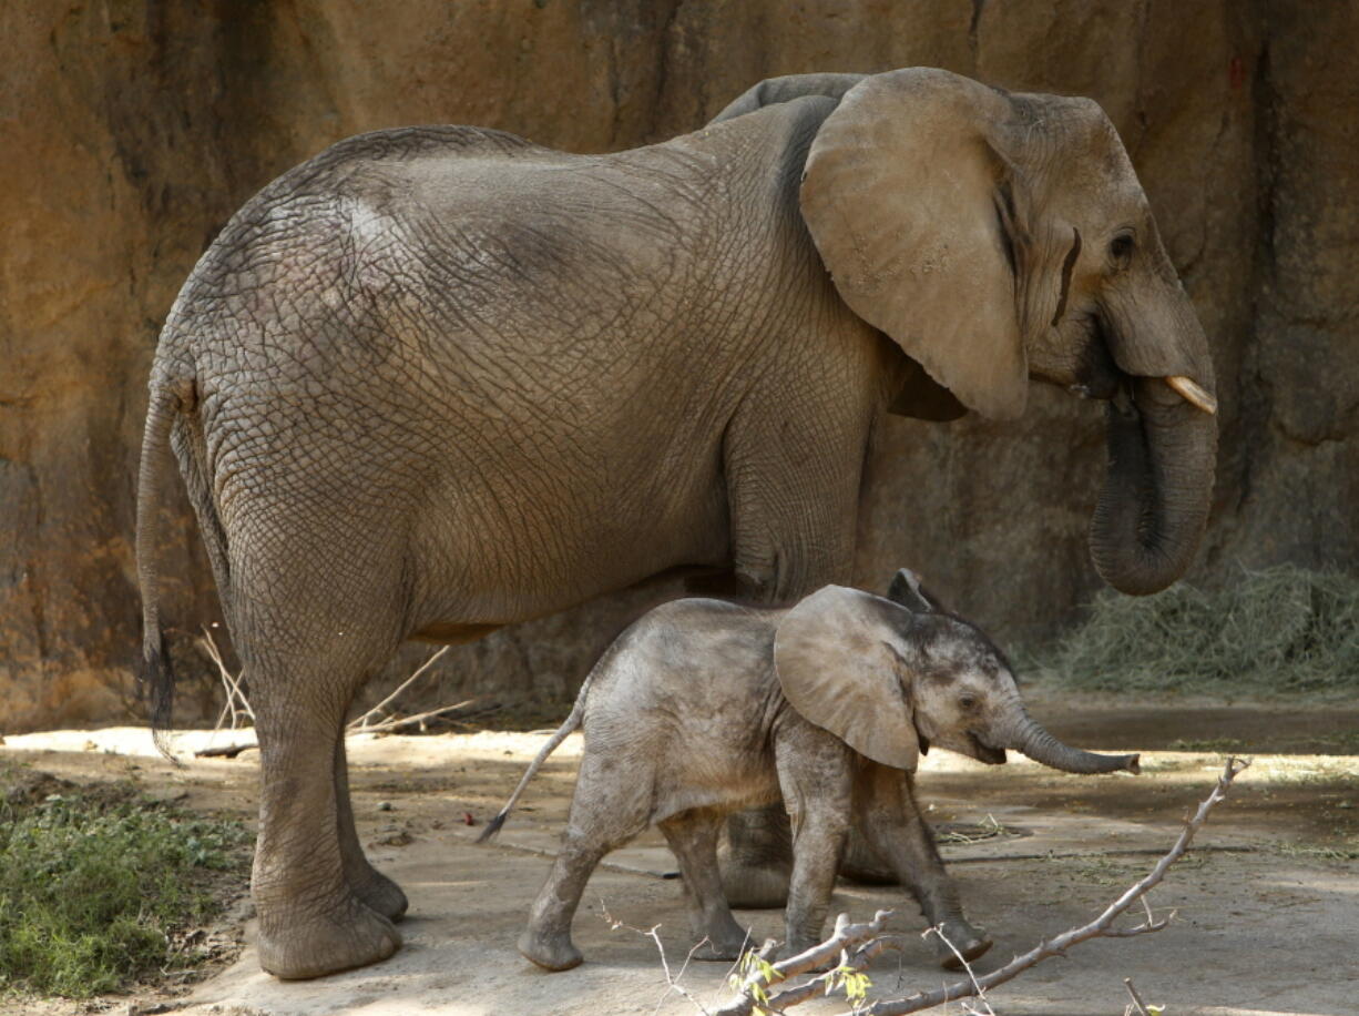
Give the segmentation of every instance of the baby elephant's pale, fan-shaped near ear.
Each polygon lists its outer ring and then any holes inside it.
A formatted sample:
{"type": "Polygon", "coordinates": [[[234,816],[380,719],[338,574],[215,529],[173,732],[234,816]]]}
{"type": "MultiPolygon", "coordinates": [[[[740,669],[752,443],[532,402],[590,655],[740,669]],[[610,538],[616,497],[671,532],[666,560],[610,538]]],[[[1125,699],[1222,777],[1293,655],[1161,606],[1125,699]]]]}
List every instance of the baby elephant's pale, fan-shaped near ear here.
{"type": "Polygon", "coordinates": [[[920,753],[898,660],[911,615],[858,589],[826,586],[779,624],[773,664],[788,703],[860,755],[913,771],[920,753]]]}

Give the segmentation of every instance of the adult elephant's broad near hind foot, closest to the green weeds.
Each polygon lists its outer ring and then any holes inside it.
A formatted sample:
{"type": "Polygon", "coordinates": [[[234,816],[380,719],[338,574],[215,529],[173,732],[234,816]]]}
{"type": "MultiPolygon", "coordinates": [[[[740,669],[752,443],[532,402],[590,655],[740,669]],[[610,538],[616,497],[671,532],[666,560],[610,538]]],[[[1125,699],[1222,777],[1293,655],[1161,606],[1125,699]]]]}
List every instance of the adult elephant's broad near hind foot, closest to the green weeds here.
{"type": "Polygon", "coordinates": [[[341,906],[307,919],[261,913],[258,948],[266,972],[283,981],[307,981],[387,959],[401,948],[401,933],[382,914],[347,895],[341,906]]]}

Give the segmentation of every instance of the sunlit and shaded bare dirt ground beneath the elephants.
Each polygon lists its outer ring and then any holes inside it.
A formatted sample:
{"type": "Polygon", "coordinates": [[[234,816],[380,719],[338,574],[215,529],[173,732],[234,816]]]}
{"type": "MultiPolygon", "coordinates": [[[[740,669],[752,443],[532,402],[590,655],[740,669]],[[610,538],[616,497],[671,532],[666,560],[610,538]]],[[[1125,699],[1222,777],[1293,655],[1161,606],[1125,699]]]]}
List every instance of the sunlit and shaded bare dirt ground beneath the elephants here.
{"type": "MultiPolygon", "coordinates": [[[[1080,747],[1146,752],[1143,774],[1068,777],[1026,760],[992,768],[943,751],[923,760],[919,786],[934,820],[964,830],[993,820],[1007,830],[943,846],[969,915],[996,940],[978,971],[1083,924],[1140,877],[1173,842],[1185,809],[1207,796],[1223,752],[1254,764],[1195,853],[1151,894],[1158,914],[1177,911],[1169,929],[1076,947],[993,990],[996,1013],[1117,1016],[1128,1001],[1125,977],[1148,1002],[1165,1005],[1166,1016],[1359,1013],[1359,710],[1038,700],[1034,714],[1080,747]]],[[[0,758],[82,782],[132,777],[186,807],[253,817],[257,752],[192,759],[205,737],[181,734],[183,768],[156,758],[144,730],[129,729],[10,737],[0,758]]],[[[660,877],[673,861],[655,832],[613,854],[591,881],[575,925],[582,967],[544,974],[515,952],[569,802],[579,736],[557,751],[496,845],[472,841],[541,743],[542,734],[491,730],[351,740],[360,835],[412,900],[405,948],[386,963],[281,983],[260,971],[247,925],[239,959],[188,994],[54,1002],[41,1012],[697,1012],[694,1001],[667,990],[656,945],[644,934],[658,926],[671,970],[680,971],[689,947],[680,888],[660,877]]],[[[834,910],[855,919],[879,907],[896,909],[896,929],[921,930],[915,904],[898,890],[843,884],[837,891],[834,910]]],[[[738,917],[757,938],[780,934],[779,911],[738,917]]],[[[870,996],[945,979],[925,943],[889,956],[871,971],[870,996]]],[[[680,983],[709,1005],[723,994],[727,972],[724,964],[690,964],[680,983]]],[[[5,1013],[35,1011],[0,1002],[5,1013]]],[[[796,1009],[844,1011],[829,1001],[796,1009]]],[[[959,1004],[936,1009],[945,1011],[965,1012],[959,1004]]]]}

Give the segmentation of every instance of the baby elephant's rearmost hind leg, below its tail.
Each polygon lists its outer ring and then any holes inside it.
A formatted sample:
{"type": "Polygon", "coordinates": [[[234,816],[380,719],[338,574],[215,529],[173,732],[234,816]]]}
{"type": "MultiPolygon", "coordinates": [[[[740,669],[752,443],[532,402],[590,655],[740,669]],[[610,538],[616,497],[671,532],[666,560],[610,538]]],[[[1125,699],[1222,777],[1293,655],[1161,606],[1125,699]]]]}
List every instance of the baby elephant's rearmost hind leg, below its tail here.
{"type": "Polygon", "coordinates": [[[580,951],[571,941],[571,919],[580,895],[603,856],[647,827],[650,790],[646,774],[624,777],[622,767],[606,767],[598,756],[586,756],[561,850],[529,911],[529,926],[519,936],[525,959],[553,971],[580,964],[580,951]]]}

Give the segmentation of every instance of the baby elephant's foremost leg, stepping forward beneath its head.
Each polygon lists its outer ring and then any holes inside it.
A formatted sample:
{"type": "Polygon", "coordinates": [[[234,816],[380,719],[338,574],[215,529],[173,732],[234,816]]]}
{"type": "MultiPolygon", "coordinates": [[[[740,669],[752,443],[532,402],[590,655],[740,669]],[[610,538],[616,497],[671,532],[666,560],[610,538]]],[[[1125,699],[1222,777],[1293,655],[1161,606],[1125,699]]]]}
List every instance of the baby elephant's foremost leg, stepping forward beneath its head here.
{"type": "Polygon", "coordinates": [[[909,774],[864,760],[859,775],[858,823],[874,850],[920,902],[931,928],[938,928],[935,956],[946,970],[958,970],[991,948],[991,937],[962,913],[958,887],[945,870],[930,826],[916,807],[909,774]]]}

